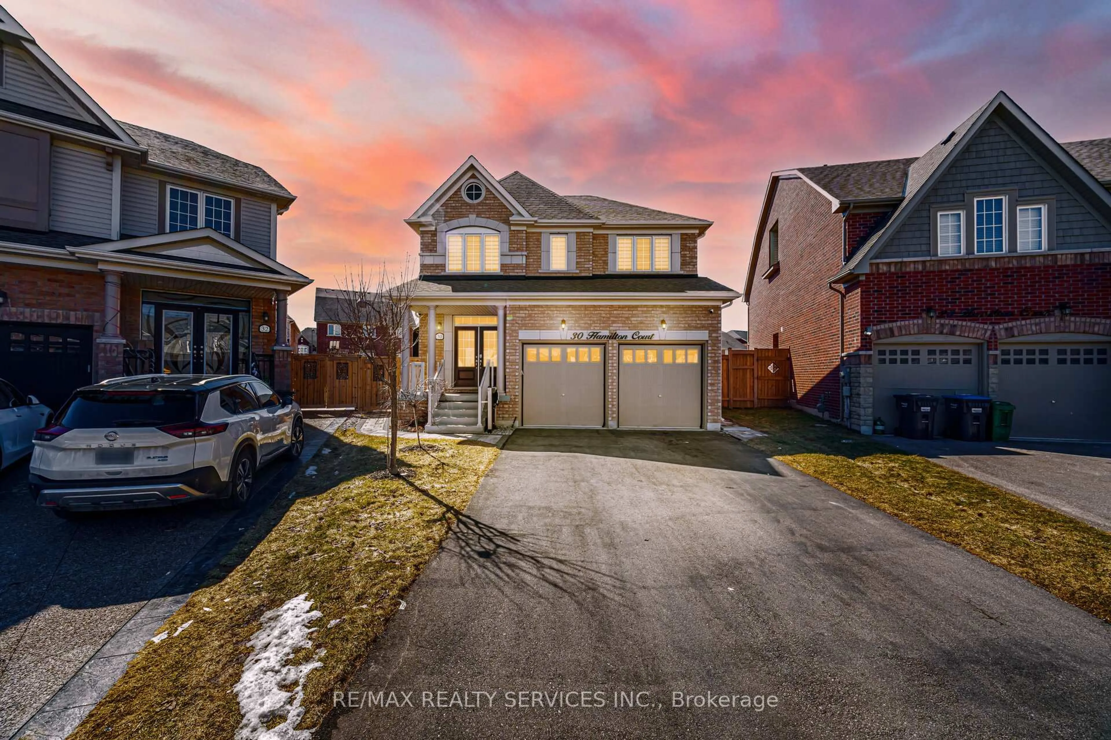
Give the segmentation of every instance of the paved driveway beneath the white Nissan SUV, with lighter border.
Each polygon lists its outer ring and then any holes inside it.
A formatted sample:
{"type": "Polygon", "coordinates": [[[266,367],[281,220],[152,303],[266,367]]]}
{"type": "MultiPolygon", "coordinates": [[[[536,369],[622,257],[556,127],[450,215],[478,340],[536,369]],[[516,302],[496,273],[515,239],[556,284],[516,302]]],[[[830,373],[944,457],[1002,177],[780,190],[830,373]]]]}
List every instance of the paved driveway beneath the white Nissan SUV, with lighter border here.
{"type": "MultiPolygon", "coordinates": [[[[309,420],[306,458],[327,437],[314,424],[330,422],[309,420]]],[[[0,738],[32,716],[21,737],[64,737],[299,463],[260,470],[254,498],[238,513],[199,501],[72,521],[34,506],[27,465],[0,474],[0,738]],[[143,612],[150,624],[118,635],[156,597],[166,607],[143,612]],[[71,681],[79,671],[82,680],[71,681]]]]}

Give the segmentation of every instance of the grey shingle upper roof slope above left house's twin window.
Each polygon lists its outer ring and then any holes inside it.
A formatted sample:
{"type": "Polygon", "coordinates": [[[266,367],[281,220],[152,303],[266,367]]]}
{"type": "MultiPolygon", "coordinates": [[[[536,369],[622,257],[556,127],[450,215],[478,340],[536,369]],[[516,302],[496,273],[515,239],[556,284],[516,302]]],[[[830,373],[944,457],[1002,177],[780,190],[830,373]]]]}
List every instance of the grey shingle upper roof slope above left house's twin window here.
{"type": "Polygon", "coordinates": [[[140,146],[147,148],[151,164],[164,165],[176,170],[184,170],[202,178],[216,178],[237,185],[244,185],[281,199],[292,201],[294,195],[270,176],[270,174],[249,162],[221,154],[214,149],[173,136],[161,131],[144,129],[133,123],[119,124],[131,134],[140,146]]]}

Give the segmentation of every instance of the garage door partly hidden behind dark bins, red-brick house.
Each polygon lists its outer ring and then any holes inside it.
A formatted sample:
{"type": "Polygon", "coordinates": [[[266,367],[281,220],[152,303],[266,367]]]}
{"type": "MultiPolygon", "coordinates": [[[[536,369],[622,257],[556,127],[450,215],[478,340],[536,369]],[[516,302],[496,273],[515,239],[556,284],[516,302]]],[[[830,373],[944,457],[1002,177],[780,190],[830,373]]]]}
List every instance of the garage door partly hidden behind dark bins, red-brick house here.
{"type": "Polygon", "coordinates": [[[872,414],[894,430],[899,417],[893,396],[898,393],[980,393],[980,346],[878,344],[872,354],[872,414]]]}

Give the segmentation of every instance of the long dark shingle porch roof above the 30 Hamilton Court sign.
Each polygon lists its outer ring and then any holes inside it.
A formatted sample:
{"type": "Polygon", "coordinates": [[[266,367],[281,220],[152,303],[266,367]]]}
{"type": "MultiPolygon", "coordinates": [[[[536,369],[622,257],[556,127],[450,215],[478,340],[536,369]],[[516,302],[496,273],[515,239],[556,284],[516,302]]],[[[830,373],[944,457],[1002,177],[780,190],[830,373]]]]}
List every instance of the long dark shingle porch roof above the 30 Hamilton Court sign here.
{"type": "MultiPolygon", "coordinates": [[[[699,275],[590,275],[584,277],[456,277],[424,275],[420,293],[702,293],[732,291],[699,275]]],[[[318,290],[319,295],[319,290],[318,290]]],[[[317,298],[318,304],[320,298],[317,298]]],[[[319,320],[318,320],[319,321],[319,320]]]]}

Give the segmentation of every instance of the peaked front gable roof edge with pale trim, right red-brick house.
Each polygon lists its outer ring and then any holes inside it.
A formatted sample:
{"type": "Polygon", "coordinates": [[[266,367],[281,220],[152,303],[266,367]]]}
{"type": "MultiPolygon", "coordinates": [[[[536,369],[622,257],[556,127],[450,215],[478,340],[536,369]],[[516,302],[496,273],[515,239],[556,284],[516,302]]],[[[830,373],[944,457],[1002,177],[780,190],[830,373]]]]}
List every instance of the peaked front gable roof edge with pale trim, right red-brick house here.
{"type": "Polygon", "coordinates": [[[1065,149],[1050,136],[1044,129],[1023,111],[1018,103],[1002,90],[975,113],[965,119],[957,129],[935,144],[929,152],[911,165],[907,175],[907,197],[894,210],[888,223],[878,230],[868,242],[857,250],[857,253],[845,263],[844,267],[831,280],[840,280],[849,274],[868,272],[870,260],[879,253],[891,235],[898,232],[907,217],[933,187],[938,179],[949,169],[964,151],[984,123],[997,113],[1008,113],[1012,125],[1028,133],[1035,140],[1057,164],[1069,170],[1081,186],[1092,196],[1092,201],[1101,204],[1111,213],[1111,193],[1082,166],[1065,149]]]}

